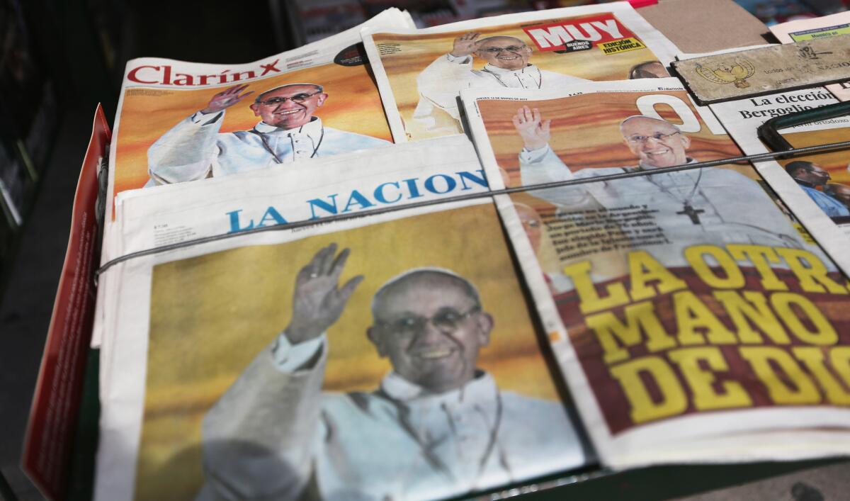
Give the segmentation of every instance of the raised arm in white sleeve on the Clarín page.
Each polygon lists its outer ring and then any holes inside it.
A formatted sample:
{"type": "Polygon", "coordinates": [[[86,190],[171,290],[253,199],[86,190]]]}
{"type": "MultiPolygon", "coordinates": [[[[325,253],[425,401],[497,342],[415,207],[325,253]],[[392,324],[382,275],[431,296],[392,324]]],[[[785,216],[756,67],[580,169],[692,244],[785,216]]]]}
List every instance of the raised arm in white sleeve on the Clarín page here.
{"type": "Polygon", "coordinates": [[[224,122],[224,110],[245,99],[247,84],[226,88],[212,96],[193,113],[162,134],[148,149],[148,174],[156,185],[204,179],[218,154],[216,136],[224,122]]]}

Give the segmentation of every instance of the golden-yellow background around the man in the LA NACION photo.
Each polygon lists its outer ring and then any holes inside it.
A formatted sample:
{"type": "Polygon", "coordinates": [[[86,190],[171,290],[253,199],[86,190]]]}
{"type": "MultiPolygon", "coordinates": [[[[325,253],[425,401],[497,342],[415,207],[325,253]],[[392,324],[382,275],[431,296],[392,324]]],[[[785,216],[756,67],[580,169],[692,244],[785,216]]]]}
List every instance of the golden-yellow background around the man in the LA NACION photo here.
{"type": "Polygon", "coordinates": [[[501,390],[558,400],[490,204],[175,261],[153,272],[136,498],[196,495],[203,484],[201,419],[286,327],[298,270],[331,242],[351,249],[341,283],[365,280],[329,329],[325,391],[377,389],[390,366],[366,339],[372,295],[405,270],[438,266],[473,282],[494,317],[479,367],[501,390]],[[452,231],[445,231],[447,221],[452,231]]]}

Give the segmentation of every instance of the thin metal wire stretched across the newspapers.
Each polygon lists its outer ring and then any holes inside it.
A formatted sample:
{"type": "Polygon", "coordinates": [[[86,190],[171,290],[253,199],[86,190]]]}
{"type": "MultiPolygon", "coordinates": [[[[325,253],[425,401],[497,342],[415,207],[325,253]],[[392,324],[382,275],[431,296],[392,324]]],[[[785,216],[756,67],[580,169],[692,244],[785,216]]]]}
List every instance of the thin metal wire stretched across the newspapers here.
{"type": "Polygon", "coordinates": [[[704,168],[704,167],[715,167],[717,165],[724,165],[727,163],[740,163],[740,162],[758,162],[760,160],[772,160],[776,157],[800,157],[802,155],[807,155],[810,153],[823,153],[825,151],[836,151],[836,150],[846,150],[850,149],[850,141],[840,141],[837,143],[830,143],[828,145],[814,145],[814,146],[806,146],[803,148],[795,148],[793,150],[787,151],[771,151],[768,153],[759,153],[757,155],[746,155],[744,157],[729,157],[729,158],[721,158],[719,160],[711,160],[709,162],[694,162],[687,163],[685,165],[677,165],[675,167],[665,167],[665,168],[653,168],[651,170],[638,170],[633,172],[624,172],[621,174],[608,174],[595,176],[592,178],[585,179],[569,179],[565,181],[553,181],[551,183],[541,183],[538,185],[527,185],[527,186],[518,186],[516,188],[505,188],[503,190],[492,190],[492,191],[481,191],[479,193],[469,193],[467,195],[457,195],[457,196],[446,196],[445,198],[437,198],[434,200],[428,200],[425,202],[413,202],[400,206],[392,206],[392,207],[382,207],[371,209],[368,211],[360,212],[360,213],[350,213],[350,214],[336,214],[332,216],[328,216],[326,218],[321,219],[309,219],[305,221],[295,221],[292,223],[286,223],[285,225],[274,225],[274,226],[263,226],[260,228],[252,228],[250,230],[244,231],[236,231],[234,233],[224,233],[222,235],[214,235],[214,236],[204,236],[201,238],[195,238],[193,240],[187,240],[185,242],[171,243],[168,245],[163,245],[160,247],[149,248],[141,251],[137,251],[134,253],[127,253],[123,256],[120,256],[116,259],[111,259],[106,262],[104,265],[100,266],[100,268],[95,272],[95,279],[100,276],[105,270],[110,269],[112,266],[122,263],[124,261],[128,261],[130,259],[141,258],[143,256],[150,256],[156,253],[167,252],[171,250],[175,250],[178,248],[186,248],[194,245],[200,245],[202,243],[207,242],[216,242],[218,240],[225,240],[228,238],[232,238],[235,236],[245,236],[250,235],[252,233],[259,233],[261,231],[283,231],[283,230],[292,230],[295,228],[303,228],[307,226],[313,225],[324,225],[327,223],[332,223],[336,221],[344,221],[347,219],[356,219],[356,218],[364,218],[368,216],[374,216],[383,213],[390,213],[398,210],[407,210],[411,208],[422,208],[422,207],[430,207],[433,205],[439,205],[442,203],[451,203],[451,202],[466,202],[468,200],[474,200],[476,198],[484,198],[491,197],[496,195],[509,195],[511,193],[519,193],[522,191],[536,191],[536,190],[546,190],[549,188],[559,188],[562,186],[572,186],[572,185],[585,185],[587,183],[598,183],[601,181],[609,181],[614,179],[626,179],[626,178],[636,178],[639,176],[644,176],[648,174],[663,174],[668,172],[679,172],[683,170],[690,170],[694,168],[704,168]]]}

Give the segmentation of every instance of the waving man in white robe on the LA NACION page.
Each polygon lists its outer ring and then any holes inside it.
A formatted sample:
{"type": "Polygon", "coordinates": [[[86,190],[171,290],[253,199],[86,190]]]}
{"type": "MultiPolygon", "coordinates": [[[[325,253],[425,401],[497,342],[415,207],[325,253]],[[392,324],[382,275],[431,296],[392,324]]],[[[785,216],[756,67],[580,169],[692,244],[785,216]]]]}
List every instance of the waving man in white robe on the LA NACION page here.
{"type": "Polygon", "coordinates": [[[446,498],[585,464],[560,402],[476,366],[493,318],[450,270],[379,288],[366,335],[393,370],[371,392],[322,392],[326,331],[363,279],[338,287],[347,257],[331,244],[300,270],[288,326],[207,413],[199,498],[446,498]]]}

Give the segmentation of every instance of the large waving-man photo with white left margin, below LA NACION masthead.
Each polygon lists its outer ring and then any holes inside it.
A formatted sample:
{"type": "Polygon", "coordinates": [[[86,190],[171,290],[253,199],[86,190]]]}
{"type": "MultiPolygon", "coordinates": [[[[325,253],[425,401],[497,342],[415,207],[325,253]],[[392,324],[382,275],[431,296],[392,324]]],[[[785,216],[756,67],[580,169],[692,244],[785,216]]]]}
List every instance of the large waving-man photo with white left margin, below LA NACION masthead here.
{"type": "Polygon", "coordinates": [[[107,273],[96,499],[448,498],[592,458],[489,198],[107,273]]]}

